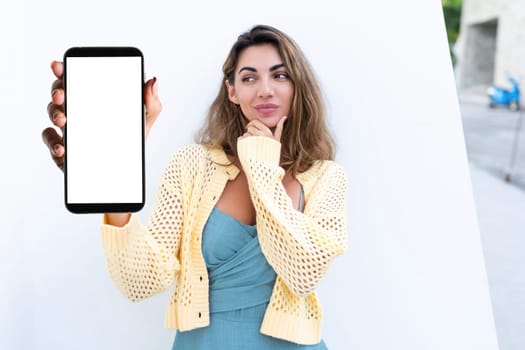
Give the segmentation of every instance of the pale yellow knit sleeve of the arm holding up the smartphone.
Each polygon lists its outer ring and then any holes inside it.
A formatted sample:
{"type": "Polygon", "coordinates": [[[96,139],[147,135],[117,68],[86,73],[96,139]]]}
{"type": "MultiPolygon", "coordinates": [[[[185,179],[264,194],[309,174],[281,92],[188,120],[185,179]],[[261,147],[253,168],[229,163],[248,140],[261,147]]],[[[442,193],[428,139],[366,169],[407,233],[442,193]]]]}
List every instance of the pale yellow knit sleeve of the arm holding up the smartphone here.
{"type": "Polygon", "coordinates": [[[180,270],[177,259],[183,225],[184,159],[179,151],[164,170],[148,224],[133,213],[123,227],[101,226],[111,279],[130,300],[139,301],[170,287],[180,270]]]}

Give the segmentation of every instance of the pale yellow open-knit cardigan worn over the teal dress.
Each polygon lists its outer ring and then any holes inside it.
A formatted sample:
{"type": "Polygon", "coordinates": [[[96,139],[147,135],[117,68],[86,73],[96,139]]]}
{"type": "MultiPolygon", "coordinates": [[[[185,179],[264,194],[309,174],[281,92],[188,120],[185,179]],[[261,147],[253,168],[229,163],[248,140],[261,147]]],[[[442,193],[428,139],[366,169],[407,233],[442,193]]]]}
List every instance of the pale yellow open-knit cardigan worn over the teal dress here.
{"type": "MultiPolygon", "coordinates": [[[[347,245],[347,177],[333,161],[318,161],[299,174],[306,203],[301,213],[281,183],[280,149],[279,142],[264,136],[238,142],[261,250],[277,274],[260,331],[316,344],[322,310],[315,288],[347,245]]],[[[202,230],[226,182],[238,173],[222,149],[186,146],[165,169],[146,226],[136,214],[123,227],[108,225],[103,218],[107,268],[127,298],[142,300],[176,283],[166,312],[167,328],[186,331],[210,322],[202,230]]]]}

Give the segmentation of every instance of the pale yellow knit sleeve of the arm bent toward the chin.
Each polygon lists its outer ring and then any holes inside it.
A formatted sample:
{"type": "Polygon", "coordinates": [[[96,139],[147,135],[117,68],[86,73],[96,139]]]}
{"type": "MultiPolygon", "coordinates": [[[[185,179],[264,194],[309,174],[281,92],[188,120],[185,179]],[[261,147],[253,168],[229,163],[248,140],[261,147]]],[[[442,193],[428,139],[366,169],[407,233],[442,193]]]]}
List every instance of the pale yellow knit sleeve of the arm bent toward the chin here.
{"type": "Polygon", "coordinates": [[[238,154],[248,178],[257,212],[261,249],[297,296],[311,294],[333,258],[347,245],[347,176],[332,161],[311,171],[315,184],[308,193],[304,213],[297,211],[282,185],[281,144],[269,137],[250,136],[238,142],[238,154]]]}

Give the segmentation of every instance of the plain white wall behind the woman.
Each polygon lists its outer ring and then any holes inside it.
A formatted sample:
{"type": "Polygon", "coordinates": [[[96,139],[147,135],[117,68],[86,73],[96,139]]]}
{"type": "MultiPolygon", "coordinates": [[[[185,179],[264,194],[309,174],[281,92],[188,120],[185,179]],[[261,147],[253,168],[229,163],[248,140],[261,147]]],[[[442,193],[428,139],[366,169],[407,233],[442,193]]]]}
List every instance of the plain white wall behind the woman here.
{"type": "Polygon", "coordinates": [[[76,45],[144,52],[164,103],[147,144],[146,220],[230,45],[266,23],[315,67],[350,177],[349,249],[319,291],[329,348],[497,349],[440,11],[438,0],[2,2],[0,348],[168,349],[174,335],[163,329],[169,294],[121,297],[105,270],[100,217],[64,207],[40,140],[50,61],[76,45]]]}

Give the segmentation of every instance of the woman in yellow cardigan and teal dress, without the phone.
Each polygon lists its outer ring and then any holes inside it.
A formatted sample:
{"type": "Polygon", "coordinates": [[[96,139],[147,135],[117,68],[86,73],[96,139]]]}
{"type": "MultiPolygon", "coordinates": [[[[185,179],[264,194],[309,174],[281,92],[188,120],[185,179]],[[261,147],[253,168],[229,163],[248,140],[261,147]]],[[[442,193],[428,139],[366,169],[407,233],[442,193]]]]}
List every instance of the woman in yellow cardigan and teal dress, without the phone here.
{"type": "MultiPolygon", "coordinates": [[[[62,65],[49,115],[63,127],[62,65]]],[[[315,288],[346,248],[347,179],[320,89],[287,35],[239,36],[198,143],[164,171],[149,222],[105,214],[102,241],[118,288],[141,300],[174,283],[166,327],[174,349],[325,349],[315,288]]],[[[146,130],[160,113],[146,83],[146,130]]],[[[59,167],[54,129],[43,138],[59,167]]]]}

